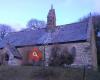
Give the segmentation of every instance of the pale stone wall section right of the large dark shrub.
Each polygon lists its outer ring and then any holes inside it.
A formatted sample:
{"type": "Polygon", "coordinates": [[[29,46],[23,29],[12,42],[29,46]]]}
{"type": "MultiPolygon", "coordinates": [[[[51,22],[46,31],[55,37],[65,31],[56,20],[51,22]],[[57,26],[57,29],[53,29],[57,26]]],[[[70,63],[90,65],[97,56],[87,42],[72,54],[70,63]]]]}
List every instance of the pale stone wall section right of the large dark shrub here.
{"type": "Polygon", "coordinates": [[[90,51],[90,44],[86,43],[74,43],[69,44],[70,50],[72,47],[76,48],[76,57],[73,65],[92,65],[92,56],[90,51]]]}

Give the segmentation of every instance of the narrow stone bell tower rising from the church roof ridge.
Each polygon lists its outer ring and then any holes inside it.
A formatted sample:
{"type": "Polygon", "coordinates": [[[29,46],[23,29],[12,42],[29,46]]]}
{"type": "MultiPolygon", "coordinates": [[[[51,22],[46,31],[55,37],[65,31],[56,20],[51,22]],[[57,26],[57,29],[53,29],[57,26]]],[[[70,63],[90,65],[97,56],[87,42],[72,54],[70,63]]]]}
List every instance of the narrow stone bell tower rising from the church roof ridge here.
{"type": "Polygon", "coordinates": [[[54,30],[56,27],[56,14],[55,9],[53,9],[53,5],[51,5],[51,9],[47,15],[47,29],[54,30]]]}

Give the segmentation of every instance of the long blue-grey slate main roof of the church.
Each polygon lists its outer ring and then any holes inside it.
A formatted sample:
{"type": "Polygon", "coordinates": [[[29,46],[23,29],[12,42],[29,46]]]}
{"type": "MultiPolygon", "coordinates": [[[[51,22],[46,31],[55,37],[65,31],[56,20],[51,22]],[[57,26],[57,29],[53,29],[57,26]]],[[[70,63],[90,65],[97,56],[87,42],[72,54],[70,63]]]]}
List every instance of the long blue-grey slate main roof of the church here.
{"type": "Polygon", "coordinates": [[[88,22],[57,26],[55,32],[47,32],[45,28],[30,31],[9,33],[1,42],[0,48],[10,42],[14,46],[48,44],[87,40],[88,22]]]}

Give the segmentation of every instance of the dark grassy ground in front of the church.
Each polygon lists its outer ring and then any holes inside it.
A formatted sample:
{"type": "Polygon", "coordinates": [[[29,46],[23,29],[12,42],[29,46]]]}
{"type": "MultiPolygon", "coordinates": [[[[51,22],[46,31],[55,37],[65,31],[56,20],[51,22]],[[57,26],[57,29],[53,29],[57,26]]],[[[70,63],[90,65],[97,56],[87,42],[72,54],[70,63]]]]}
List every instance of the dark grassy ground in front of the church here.
{"type": "Polygon", "coordinates": [[[1,66],[0,80],[100,80],[96,71],[59,67],[1,66]]]}

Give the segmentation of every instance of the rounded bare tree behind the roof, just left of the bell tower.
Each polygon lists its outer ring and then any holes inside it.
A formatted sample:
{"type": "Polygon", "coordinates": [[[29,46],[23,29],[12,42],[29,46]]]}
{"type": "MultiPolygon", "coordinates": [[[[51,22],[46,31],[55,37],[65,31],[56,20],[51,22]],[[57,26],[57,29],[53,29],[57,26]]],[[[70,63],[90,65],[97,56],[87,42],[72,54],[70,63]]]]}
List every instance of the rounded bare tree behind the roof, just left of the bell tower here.
{"type": "Polygon", "coordinates": [[[31,19],[27,23],[28,28],[44,28],[46,26],[45,21],[37,20],[37,19],[31,19]]]}

